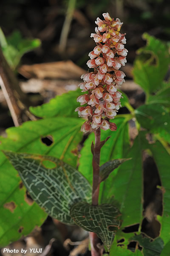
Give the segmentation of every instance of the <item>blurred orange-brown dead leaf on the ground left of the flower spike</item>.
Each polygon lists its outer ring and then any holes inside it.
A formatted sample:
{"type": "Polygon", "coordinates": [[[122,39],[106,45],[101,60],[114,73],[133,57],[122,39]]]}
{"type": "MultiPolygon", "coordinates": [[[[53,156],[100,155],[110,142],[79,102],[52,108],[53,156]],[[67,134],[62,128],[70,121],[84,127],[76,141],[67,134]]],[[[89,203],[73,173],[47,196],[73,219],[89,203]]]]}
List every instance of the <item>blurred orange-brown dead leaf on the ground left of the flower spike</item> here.
{"type": "Polygon", "coordinates": [[[72,61],[23,65],[18,69],[18,72],[28,79],[33,77],[39,79],[79,79],[83,73],[86,73],[72,61]]]}

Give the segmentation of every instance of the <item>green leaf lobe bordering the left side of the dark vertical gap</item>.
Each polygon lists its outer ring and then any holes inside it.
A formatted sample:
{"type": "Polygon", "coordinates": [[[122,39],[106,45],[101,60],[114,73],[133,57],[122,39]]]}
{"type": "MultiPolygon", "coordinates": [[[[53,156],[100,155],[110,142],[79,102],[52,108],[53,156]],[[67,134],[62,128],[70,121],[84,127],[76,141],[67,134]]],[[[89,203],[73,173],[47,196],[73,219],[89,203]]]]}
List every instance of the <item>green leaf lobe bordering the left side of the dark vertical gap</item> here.
{"type": "Polygon", "coordinates": [[[141,134],[136,137],[132,148],[130,148],[126,156],[132,158],[132,160],[122,163],[116,176],[111,180],[110,187],[105,186],[103,189],[103,198],[108,198],[109,200],[114,196],[114,200],[119,203],[124,227],[141,223],[142,221],[143,140],[144,138],[141,134]]]}

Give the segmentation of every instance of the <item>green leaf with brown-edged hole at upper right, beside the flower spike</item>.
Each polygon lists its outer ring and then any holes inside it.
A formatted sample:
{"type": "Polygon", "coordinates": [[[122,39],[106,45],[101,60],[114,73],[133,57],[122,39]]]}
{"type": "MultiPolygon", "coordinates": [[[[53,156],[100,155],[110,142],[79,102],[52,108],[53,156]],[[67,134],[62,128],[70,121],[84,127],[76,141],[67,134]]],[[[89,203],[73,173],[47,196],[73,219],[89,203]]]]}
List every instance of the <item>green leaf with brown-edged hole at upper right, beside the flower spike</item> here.
{"type": "Polygon", "coordinates": [[[147,94],[154,93],[161,88],[162,80],[167,73],[170,56],[166,45],[159,39],[143,34],[147,45],[140,48],[140,54],[134,63],[134,81],[139,84],[147,94]]]}

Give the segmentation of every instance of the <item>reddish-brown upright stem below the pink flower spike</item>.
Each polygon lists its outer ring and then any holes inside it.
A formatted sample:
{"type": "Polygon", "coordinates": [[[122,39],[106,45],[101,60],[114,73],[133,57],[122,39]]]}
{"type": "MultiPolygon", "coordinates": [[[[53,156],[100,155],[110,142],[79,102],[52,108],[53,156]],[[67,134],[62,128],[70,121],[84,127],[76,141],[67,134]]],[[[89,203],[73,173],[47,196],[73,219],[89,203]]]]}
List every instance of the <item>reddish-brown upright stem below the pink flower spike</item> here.
{"type": "MultiPolygon", "coordinates": [[[[94,131],[95,144],[93,151],[93,192],[92,192],[92,205],[98,205],[99,200],[99,169],[100,169],[100,128],[94,131]]],[[[99,243],[99,238],[96,233],[89,233],[90,243],[91,243],[91,256],[100,256],[100,249],[97,247],[99,243]]]]}

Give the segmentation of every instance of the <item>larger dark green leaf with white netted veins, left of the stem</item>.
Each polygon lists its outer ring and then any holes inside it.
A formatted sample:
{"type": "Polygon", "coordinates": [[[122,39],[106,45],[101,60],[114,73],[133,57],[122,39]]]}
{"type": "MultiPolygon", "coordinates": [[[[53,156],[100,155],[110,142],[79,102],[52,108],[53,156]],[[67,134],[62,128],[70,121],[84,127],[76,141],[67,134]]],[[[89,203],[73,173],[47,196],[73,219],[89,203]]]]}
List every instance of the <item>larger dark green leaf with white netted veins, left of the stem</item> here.
{"type": "Polygon", "coordinates": [[[91,202],[90,184],[67,163],[55,157],[3,152],[19,172],[31,197],[51,217],[74,224],[71,205],[79,201],[91,202]]]}

